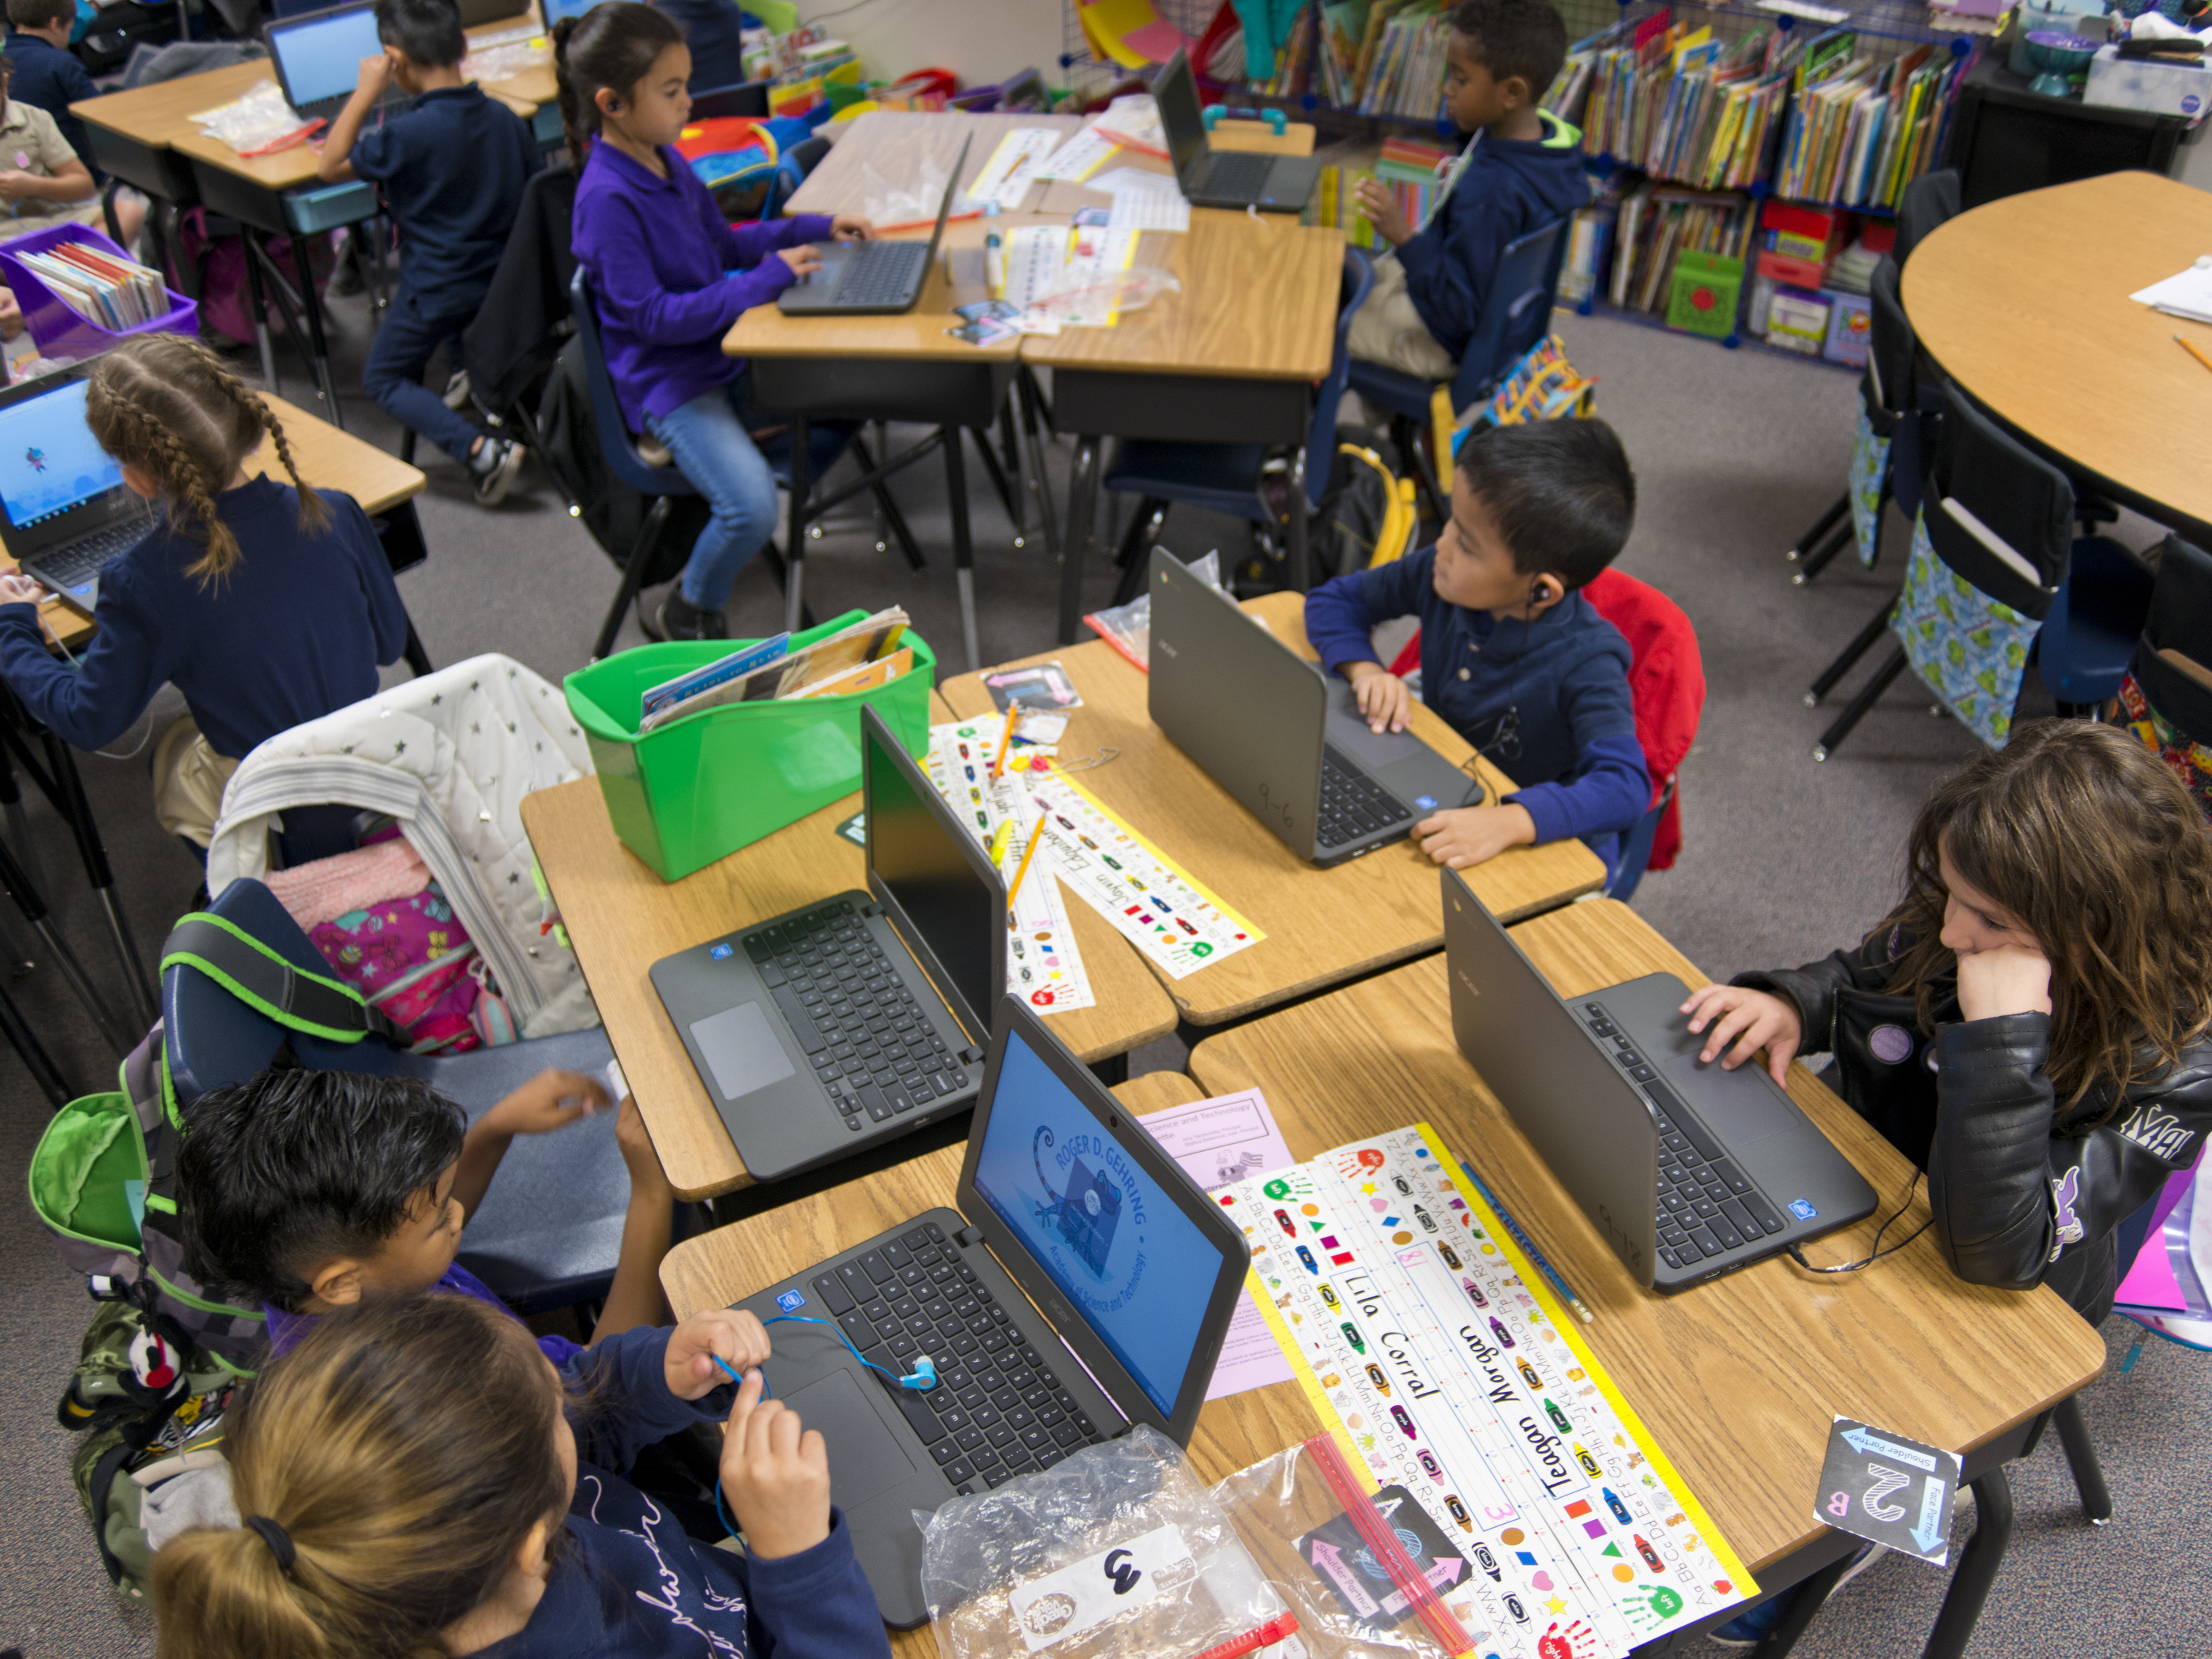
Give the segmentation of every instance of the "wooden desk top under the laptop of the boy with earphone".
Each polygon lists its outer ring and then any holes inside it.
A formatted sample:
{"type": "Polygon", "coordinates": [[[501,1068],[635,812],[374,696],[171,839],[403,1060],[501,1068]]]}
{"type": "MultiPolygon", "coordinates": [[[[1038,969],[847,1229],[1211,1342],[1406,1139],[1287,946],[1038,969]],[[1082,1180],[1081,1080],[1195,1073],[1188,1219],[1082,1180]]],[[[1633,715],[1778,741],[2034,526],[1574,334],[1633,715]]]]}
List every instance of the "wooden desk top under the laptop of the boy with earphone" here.
{"type": "MultiPolygon", "coordinates": [[[[1305,602],[1296,593],[1254,599],[1279,639],[1303,657],[1305,602]]],[[[1186,876],[1259,927],[1267,938],[1225,956],[1190,978],[1161,984],[1194,1024],[1219,1024],[1259,1013],[1310,991],[1371,973],[1444,942],[1438,869],[1411,841],[1380,847],[1365,858],[1316,869],[1254,823],[1197,761],[1152,726],[1146,710],[1148,679],[1106,641],[1044,650],[1020,661],[1066,666],[1084,697],[1073,710],[1060,752],[1068,759],[1117,748],[1099,768],[1073,774],[1099,803],[1150,841],[1186,876]]],[[[982,675],[960,675],[942,686],[956,714],[991,712],[982,675]]],[[[1413,706],[1413,734],[1449,761],[1473,750],[1429,708],[1413,706]]],[[[1480,763],[1495,799],[1513,781],[1480,763]]],[[[1579,841],[1515,847],[1471,874],[1482,902],[1506,918],[1564,905],[1595,891],[1606,867],[1579,841]]],[[[1084,905],[1088,909],[1088,905],[1084,905]]],[[[1334,1146],[1334,1141],[1332,1141],[1334,1146]]]]}

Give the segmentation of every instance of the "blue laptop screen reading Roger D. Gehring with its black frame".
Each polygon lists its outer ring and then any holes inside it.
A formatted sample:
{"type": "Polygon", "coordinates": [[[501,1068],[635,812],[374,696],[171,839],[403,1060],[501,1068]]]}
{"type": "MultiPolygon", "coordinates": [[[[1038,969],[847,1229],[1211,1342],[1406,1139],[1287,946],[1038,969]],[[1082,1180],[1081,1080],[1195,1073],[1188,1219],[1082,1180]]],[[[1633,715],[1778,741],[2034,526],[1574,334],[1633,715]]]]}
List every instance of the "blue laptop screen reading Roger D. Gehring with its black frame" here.
{"type": "MultiPolygon", "coordinates": [[[[1144,1135],[1135,1119],[1117,1121],[1144,1135]]],[[[973,1157],[982,1201],[1172,1416],[1221,1281],[1221,1245],[1102,1133],[1022,1026],[1006,1037],[973,1157]]]]}

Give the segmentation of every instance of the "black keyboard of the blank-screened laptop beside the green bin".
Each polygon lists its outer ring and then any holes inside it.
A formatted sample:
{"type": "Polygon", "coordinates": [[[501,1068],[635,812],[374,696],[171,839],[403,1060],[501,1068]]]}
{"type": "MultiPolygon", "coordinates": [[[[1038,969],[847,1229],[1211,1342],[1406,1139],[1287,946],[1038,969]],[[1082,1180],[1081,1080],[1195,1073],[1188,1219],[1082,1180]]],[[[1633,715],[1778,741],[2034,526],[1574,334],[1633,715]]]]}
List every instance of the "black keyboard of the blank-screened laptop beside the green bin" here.
{"type": "Polygon", "coordinates": [[[849,898],[743,936],[761,982],[830,1102],[858,1133],[969,1086],[964,1055],[929,1024],[849,898]]]}

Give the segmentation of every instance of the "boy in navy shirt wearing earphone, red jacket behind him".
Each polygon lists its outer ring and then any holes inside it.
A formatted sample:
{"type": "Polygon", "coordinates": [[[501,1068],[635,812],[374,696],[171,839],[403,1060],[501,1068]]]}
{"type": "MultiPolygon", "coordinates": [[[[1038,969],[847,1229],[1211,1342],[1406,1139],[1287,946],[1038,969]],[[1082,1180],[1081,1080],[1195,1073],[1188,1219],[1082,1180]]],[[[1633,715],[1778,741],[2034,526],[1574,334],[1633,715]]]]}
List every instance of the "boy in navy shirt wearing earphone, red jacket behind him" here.
{"type": "Polygon", "coordinates": [[[1418,553],[1305,597],[1305,637],[1358,692],[1374,730],[1402,732],[1411,692],[1376,661],[1371,633],[1420,617],[1422,699],[1522,787],[1436,812],[1420,849],[1467,869],[1506,847],[1579,836],[1610,872],[1621,832],[1650,807],[1628,697],[1628,641],[1582,588],[1621,551],[1637,480],[1613,427],[1491,427],[1460,449],[1451,522],[1418,553]]]}

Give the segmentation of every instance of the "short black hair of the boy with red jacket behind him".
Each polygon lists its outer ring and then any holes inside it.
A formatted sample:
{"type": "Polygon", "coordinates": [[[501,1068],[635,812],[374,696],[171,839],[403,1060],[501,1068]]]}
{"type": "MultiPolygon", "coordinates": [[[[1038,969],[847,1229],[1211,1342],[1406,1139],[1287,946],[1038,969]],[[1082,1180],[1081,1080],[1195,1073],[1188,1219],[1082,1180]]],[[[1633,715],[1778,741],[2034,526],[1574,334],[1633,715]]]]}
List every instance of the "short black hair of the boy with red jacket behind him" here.
{"type": "Polygon", "coordinates": [[[1604,420],[1484,427],[1453,462],[1482,500],[1522,575],[1586,586],[1619,557],[1637,522],[1637,476],[1604,420]]]}

